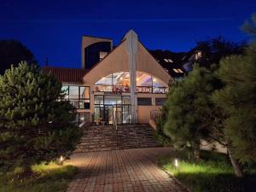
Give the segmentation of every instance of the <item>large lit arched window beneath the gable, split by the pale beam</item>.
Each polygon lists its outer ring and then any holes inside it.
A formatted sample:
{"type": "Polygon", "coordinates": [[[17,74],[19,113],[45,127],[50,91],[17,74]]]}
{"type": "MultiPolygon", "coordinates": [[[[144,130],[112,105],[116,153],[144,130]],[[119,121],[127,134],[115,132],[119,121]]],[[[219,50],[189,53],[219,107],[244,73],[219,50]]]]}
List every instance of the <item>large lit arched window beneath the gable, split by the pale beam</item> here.
{"type": "MultiPolygon", "coordinates": [[[[137,72],[137,92],[166,93],[167,86],[154,76],[137,72]]],[[[130,92],[130,72],[112,73],[96,82],[96,92],[130,92]]]]}

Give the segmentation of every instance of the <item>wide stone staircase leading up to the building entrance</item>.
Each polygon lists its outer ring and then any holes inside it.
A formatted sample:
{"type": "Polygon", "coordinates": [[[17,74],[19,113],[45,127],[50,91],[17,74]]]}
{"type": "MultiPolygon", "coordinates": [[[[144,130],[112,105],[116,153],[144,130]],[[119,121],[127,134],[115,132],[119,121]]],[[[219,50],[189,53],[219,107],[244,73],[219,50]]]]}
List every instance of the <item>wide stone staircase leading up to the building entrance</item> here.
{"type": "Polygon", "coordinates": [[[117,131],[113,125],[90,125],[82,129],[84,135],[75,153],[160,147],[149,125],[118,125],[117,131]]]}

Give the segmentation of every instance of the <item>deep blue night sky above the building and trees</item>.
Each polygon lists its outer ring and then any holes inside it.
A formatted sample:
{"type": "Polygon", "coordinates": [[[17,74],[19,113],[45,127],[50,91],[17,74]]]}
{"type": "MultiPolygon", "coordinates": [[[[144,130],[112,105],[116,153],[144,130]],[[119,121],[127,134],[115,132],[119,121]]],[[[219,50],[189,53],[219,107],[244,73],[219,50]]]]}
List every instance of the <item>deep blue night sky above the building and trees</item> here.
{"type": "Polygon", "coordinates": [[[186,51],[216,36],[248,39],[240,26],[255,0],[1,0],[0,39],[25,44],[41,65],[80,67],[82,35],[113,38],[133,29],[148,49],[186,51]]]}

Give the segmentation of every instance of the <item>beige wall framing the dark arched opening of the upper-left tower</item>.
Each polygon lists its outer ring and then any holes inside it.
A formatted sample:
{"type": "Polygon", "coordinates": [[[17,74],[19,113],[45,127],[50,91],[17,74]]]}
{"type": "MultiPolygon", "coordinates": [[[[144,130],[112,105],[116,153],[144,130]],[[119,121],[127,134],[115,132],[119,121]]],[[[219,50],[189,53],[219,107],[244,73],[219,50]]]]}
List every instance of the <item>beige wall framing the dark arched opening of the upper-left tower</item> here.
{"type": "Polygon", "coordinates": [[[98,42],[110,42],[111,43],[111,49],[113,48],[113,40],[108,38],[94,38],[94,37],[82,37],[82,68],[84,68],[84,48],[88,47],[90,44],[95,44],[98,42]]]}

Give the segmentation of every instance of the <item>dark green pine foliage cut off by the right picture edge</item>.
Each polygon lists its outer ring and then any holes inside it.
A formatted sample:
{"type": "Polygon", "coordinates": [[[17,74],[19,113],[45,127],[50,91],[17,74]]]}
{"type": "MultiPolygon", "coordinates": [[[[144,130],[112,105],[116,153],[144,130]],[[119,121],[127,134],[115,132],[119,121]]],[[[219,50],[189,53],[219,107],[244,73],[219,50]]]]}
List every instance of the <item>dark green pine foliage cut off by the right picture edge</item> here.
{"type": "Polygon", "coordinates": [[[217,90],[212,98],[226,116],[224,131],[232,143],[232,153],[241,161],[256,160],[256,44],[247,55],[221,61],[217,75],[224,89],[217,90]]]}

